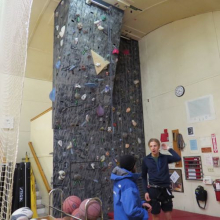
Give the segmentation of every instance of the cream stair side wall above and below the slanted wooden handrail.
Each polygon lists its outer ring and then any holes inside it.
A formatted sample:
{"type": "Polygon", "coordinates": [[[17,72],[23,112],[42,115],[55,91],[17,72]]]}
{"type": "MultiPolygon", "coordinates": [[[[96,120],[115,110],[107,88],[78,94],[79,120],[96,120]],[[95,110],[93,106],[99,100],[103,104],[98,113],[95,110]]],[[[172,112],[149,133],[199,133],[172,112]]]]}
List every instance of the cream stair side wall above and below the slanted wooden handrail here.
{"type": "MultiPolygon", "coordinates": [[[[31,142],[47,181],[50,184],[53,175],[53,156],[50,154],[53,152],[52,111],[47,112],[31,122],[31,142]]],[[[32,154],[30,156],[30,162],[42,196],[42,204],[48,205],[48,192],[32,154]]],[[[48,210],[46,213],[48,213],[48,210]]]]}

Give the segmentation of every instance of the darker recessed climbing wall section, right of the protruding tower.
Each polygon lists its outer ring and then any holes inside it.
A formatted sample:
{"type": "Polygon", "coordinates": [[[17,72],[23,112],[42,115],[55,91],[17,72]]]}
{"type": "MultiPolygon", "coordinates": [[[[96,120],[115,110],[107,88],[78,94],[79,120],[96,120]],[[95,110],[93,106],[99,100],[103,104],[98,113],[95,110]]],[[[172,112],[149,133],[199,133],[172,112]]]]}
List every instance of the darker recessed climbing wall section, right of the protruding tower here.
{"type": "Polygon", "coordinates": [[[137,172],[141,172],[145,139],[138,41],[121,38],[113,106],[115,156],[134,155],[137,172]]]}

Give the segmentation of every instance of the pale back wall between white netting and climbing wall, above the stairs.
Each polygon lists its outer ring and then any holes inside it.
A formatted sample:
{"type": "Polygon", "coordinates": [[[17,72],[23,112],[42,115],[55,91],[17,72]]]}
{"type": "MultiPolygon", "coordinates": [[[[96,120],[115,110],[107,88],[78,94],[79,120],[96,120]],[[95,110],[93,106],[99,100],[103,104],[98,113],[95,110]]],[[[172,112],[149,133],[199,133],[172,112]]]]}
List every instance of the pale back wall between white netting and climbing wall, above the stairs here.
{"type": "Polygon", "coordinates": [[[25,158],[25,153],[30,152],[30,120],[52,106],[49,93],[52,82],[25,78],[24,92],[21,108],[21,122],[17,162],[25,158]]]}

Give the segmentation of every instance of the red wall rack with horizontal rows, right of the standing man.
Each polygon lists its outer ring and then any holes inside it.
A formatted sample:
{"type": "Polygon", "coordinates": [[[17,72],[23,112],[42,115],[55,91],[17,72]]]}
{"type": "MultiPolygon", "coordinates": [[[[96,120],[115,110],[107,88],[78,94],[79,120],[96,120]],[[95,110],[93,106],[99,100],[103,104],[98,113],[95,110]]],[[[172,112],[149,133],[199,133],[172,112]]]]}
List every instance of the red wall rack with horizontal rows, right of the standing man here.
{"type": "Polygon", "coordinates": [[[183,157],[186,180],[203,180],[202,160],[200,156],[183,157]]]}

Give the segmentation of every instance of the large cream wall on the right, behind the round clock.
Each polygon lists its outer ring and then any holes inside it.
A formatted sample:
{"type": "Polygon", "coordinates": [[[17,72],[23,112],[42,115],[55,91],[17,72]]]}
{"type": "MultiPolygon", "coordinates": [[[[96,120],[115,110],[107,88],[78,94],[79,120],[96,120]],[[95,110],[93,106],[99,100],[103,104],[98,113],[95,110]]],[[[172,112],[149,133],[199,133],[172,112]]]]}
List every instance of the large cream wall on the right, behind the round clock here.
{"type": "MultiPolygon", "coordinates": [[[[202,156],[192,154],[189,149],[187,127],[192,125],[195,138],[217,136],[220,156],[220,12],[206,13],[163,26],[139,41],[143,108],[146,142],[159,139],[163,129],[179,129],[187,144],[182,156],[202,156]],[[185,95],[176,97],[178,85],[185,87],[185,95]],[[205,95],[213,95],[216,119],[188,124],[185,102],[205,95]]],[[[199,143],[199,142],[198,142],[199,143]]],[[[147,153],[149,153],[146,146],[147,153]]],[[[204,175],[220,178],[220,168],[208,172],[203,162],[204,175]]],[[[198,208],[195,188],[201,181],[185,180],[184,193],[175,193],[174,208],[220,216],[219,202],[215,199],[213,187],[205,185],[208,191],[206,210],[198,208]]]]}

